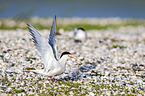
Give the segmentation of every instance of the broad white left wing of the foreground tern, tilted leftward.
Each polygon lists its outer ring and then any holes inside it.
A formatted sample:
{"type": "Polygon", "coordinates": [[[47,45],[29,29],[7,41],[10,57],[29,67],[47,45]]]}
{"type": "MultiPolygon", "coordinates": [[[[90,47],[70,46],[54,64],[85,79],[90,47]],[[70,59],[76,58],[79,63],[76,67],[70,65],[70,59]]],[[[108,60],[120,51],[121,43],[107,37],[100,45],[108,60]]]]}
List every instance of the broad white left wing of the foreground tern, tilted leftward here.
{"type": "Polygon", "coordinates": [[[49,60],[54,59],[52,48],[48,44],[47,40],[44,37],[42,37],[33,26],[29,24],[27,25],[29,28],[30,35],[32,36],[33,42],[42,56],[42,61],[44,62],[45,69],[49,70],[48,62],[49,60]]]}

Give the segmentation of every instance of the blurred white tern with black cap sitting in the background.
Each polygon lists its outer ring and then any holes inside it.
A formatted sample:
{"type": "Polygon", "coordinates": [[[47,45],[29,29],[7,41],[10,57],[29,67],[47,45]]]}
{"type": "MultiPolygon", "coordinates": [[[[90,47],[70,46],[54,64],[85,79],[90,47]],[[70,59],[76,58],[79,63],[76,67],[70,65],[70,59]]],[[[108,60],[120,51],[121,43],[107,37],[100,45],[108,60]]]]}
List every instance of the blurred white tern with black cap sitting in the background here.
{"type": "Polygon", "coordinates": [[[74,41],[83,42],[87,39],[87,32],[84,28],[74,28],[74,41]]]}

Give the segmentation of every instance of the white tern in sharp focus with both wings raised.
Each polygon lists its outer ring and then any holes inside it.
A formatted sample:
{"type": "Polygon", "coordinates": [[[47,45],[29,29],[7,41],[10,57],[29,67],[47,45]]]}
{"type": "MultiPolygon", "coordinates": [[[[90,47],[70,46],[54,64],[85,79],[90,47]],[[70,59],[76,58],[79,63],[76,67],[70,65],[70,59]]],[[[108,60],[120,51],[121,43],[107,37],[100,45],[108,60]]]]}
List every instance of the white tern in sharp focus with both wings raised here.
{"type": "Polygon", "coordinates": [[[40,52],[42,61],[44,63],[44,69],[29,71],[39,73],[41,75],[47,75],[50,77],[62,74],[66,69],[65,66],[68,57],[73,58],[71,56],[73,55],[73,53],[63,52],[59,58],[57,57],[56,16],[53,20],[48,40],[42,37],[33,26],[31,26],[30,24],[27,25],[33,42],[37,50],[40,52]]]}

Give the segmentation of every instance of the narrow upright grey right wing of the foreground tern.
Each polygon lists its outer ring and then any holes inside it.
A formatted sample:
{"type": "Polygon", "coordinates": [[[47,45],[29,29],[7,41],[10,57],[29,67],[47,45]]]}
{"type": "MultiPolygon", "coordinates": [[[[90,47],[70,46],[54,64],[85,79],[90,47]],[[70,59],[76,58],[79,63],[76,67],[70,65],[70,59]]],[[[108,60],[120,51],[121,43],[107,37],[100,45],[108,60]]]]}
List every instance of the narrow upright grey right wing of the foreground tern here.
{"type": "Polygon", "coordinates": [[[55,16],[53,24],[52,24],[52,27],[51,27],[51,30],[50,30],[48,43],[52,47],[54,57],[57,60],[57,45],[56,45],[56,41],[57,41],[57,36],[56,36],[56,16],[55,16]]]}

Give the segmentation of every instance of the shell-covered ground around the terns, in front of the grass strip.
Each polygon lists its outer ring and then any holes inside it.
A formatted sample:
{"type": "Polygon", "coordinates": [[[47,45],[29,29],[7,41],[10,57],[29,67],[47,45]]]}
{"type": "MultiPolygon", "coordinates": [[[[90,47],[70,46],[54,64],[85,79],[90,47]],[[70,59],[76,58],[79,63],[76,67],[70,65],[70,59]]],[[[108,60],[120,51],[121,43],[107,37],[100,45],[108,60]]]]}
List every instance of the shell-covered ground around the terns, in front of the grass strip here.
{"type": "MultiPolygon", "coordinates": [[[[49,30],[39,32],[48,38],[49,30]]],[[[145,27],[87,33],[87,41],[75,43],[73,30],[60,30],[58,53],[70,51],[74,58],[51,82],[50,77],[22,71],[43,68],[28,30],[0,30],[0,95],[145,95],[145,27]]]]}

